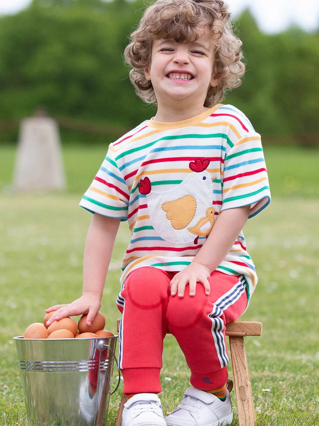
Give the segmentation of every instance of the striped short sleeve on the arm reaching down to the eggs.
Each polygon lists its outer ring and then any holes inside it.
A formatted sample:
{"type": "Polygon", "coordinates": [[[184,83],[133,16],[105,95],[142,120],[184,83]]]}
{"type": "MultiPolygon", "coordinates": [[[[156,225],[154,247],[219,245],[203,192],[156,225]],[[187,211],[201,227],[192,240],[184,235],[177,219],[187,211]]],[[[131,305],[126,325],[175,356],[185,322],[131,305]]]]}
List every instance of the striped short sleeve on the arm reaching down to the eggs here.
{"type": "Polygon", "coordinates": [[[128,219],[130,192],[114,158],[113,145],[80,201],[80,207],[103,216],[128,219]]]}

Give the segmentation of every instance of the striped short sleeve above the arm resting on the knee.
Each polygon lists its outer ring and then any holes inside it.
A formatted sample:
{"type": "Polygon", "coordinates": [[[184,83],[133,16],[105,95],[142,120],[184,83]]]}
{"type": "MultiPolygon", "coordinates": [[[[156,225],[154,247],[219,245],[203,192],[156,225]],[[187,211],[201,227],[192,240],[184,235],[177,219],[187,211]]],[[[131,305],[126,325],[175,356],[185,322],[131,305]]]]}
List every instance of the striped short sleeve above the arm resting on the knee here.
{"type": "Polygon", "coordinates": [[[225,155],[222,210],[251,205],[249,218],[271,201],[260,135],[250,132],[225,155]]]}

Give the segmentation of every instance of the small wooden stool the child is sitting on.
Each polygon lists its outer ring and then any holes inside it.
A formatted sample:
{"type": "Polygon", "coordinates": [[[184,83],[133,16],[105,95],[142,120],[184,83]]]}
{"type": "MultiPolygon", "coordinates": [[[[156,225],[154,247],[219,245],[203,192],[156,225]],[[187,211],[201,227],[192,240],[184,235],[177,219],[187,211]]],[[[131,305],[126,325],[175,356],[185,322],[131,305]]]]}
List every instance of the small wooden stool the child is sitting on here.
{"type": "MultiPolygon", "coordinates": [[[[117,320],[117,331],[119,330],[120,320],[117,320]]],[[[256,422],[244,337],[261,336],[261,334],[261,322],[234,321],[226,324],[226,336],[228,336],[231,348],[231,363],[233,367],[239,426],[253,426],[256,422]]],[[[126,400],[126,395],[122,394],[115,426],[122,426],[122,411],[126,400]]]]}

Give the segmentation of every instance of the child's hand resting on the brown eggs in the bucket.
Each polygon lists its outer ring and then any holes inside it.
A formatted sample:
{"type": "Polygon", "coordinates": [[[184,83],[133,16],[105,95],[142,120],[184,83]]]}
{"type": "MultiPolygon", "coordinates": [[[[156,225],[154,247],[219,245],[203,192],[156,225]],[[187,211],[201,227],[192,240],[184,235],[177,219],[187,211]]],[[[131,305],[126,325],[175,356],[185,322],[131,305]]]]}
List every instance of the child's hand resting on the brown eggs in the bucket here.
{"type": "Polygon", "coordinates": [[[86,292],[83,293],[79,299],[74,300],[67,305],[54,305],[46,309],[46,313],[56,311],[47,321],[47,327],[54,321],[62,320],[65,317],[72,317],[74,315],[88,314],[86,318],[86,325],[90,326],[96,317],[97,312],[101,307],[101,298],[97,293],[86,292]]]}

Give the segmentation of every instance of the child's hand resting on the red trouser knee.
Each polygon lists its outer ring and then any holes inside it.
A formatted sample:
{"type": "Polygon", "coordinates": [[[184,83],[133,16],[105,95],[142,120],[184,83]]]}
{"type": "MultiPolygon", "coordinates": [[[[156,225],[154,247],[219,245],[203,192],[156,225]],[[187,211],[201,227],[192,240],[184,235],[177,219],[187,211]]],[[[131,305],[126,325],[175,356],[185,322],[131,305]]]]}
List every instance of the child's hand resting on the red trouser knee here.
{"type": "Polygon", "coordinates": [[[189,284],[189,295],[195,296],[197,282],[201,282],[205,288],[205,293],[209,294],[211,287],[208,282],[208,277],[210,276],[211,271],[207,266],[193,261],[190,265],[186,266],[185,269],[178,272],[169,283],[171,295],[175,296],[175,294],[178,293],[178,297],[183,297],[185,287],[189,284]]]}

